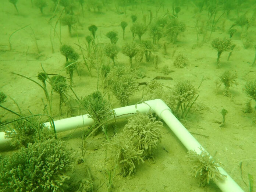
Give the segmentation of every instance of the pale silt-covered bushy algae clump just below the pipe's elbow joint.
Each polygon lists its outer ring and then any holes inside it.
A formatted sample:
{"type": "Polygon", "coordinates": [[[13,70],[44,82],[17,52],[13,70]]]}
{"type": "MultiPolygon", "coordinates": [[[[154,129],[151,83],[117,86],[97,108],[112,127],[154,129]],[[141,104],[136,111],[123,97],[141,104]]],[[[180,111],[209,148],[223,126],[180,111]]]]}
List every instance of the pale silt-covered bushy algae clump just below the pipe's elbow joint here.
{"type": "Polygon", "coordinates": [[[112,159],[124,177],[135,173],[140,162],[153,158],[162,127],[163,123],[156,121],[152,115],[137,114],[129,119],[123,132],[106,143],[107,149],[113,151],[112,159]]]}

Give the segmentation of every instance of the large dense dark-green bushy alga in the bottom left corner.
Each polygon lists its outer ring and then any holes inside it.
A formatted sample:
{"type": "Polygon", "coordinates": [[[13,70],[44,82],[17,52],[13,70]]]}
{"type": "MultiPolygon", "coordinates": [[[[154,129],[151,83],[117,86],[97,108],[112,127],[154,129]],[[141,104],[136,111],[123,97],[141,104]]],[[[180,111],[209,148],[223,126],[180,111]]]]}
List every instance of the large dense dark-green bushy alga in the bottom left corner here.
{"type": "Polygon", "coordinates": [[[0,160],[1,191],[64,191],[73,157],[63,141],[47,139],[0,160]]]}

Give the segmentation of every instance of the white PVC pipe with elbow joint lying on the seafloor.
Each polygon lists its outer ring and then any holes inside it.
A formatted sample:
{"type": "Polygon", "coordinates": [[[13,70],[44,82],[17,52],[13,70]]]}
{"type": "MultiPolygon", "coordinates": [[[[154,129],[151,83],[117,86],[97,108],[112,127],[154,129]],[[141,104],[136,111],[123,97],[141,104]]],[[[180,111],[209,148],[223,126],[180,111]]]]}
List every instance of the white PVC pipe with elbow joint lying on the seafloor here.
{"type": "MultiPolygon", "coordinates": [[[[171,113],[171,109],[160,99],[154,99],[126,107],[114,109],[115,119],[131,117],[136,113],[156,113],[168,127],[174,132],[181,143],[187,150],[193,150],[200,154],[205,150],[202,145],[189,133],[189,131],[179,122],[179,120],[171,113]]],[[[77,117],[70,117],[63,120],[54,121],[56,133],[75,129],[78,127],[86,127],[93,125],[94,121],[90,115],[80,115],[77,117]]],[[[50,122],[45,123],[50,127],[50,122]]],[[[4,138],[4,132],[0,132],[0,145],[10,139],[4,138]]],[[[216,185],[223,192],[243,192],[242,188],[227,174],[227,172],[218,167],[221,174],[226,175],[223,181],[215,181],[216,185]]]]}

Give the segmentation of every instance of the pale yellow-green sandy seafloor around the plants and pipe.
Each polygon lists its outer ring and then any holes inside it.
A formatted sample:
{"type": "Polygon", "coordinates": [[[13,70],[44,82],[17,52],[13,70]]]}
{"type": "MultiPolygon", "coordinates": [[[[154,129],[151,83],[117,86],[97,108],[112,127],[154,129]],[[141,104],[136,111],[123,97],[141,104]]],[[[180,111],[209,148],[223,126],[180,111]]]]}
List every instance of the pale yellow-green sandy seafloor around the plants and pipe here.
{"type": "MultiPolygon", "coordinates": [[[[28,77],[35,77],[38,72],[42,72],[40,63],[50,74],[67,75],[63,70],[65,58],[60,54],[60,42],[56,37],[54,39],[54,53],[51,51],[50,43],[50,29],[48,23],[52,15],[52,2],[44,9],[45,15],[42,16],[36,7],[31,6],[30,1],[19,0],[17,7],[20,14],[18,15],[13,7],[7,0],[1,2],[0,6],[0,91],[4,92],[7,96],[12,97],[19,105],[24,113],[30,110],[33,114],[41,113],[43,104],[41,98],[44,98],[43,91],[35,83],[28,81],[25,78],[11,74],[16,72],[28,77]],[[10,51],[8,39],[15,30],[28,27],[18,31],[11,37],[12,50],[10,51]],[[31,28],[33,29],[36,41],[39,47],[38,50],[35,46],[35,40],[31,28]]],[[[138,21],[142,22],[142,10],[147,13],[147,9],[152,10],[153,19],[156,16],[156,7],[149,5],[128,6],[126,14],[115,13],[114,6],[107,5],[102,9],[102,13],[95,13],[88,11],[86,5],[84,7],[84,17],[79,8],[75,14],[79,16],[79,24],[75,27],[79,34],[81,45],[85,45],[85,36],[89,35],[88,26],[95,24],[98,26],[96,32],[97,41],[100,43],[108,43],[109,39],[105,36],[108,31],[117,31],[119,40],[117,46],[121,47],[124,42],[132,42],[131,31],[131,15],[136,14],[138,21]],[[126,28],[126,38],[122,39],[122,29],[119,26],[121,21],[127,21],[128,27],[126,28]]],[[[160,8],[158,15],[164,15],[167,10],[171,10],[169,4],[165,4],[160,8]]],[[[202,46],[194,46],[196,40],[195,18],[193,18],[195,7],[188,3],[181,7],[181,12],[178,14],[179,21],[185,23],[186,31],[178,35],[178,42],[174,45],[168,41],[168,37],[160,39],[159,50],[156,54],[159,56],[158,69],[154,68],[153,63],[137,63],[141,70],[145,72],[146,77],[138,79],[138,82],[149,82],[156,76],[172,77],[172,81],[158,80],[163,85],[173,87],[175,83],[181,79],[189,79],[195,87],[198,87],[202,78],[204,81],[199,89],[199,97],[196,101],[198,106],[192,109],[191,113],[186,118],[186,121],[181,121],[184,126],[192,133],[208,136],[207,138],[200,135],[194,135],[199,143],[215,158],[223,163],[224,170],[237,182],[244,191],[249,191],[248,174],[253,175],[254,184],[256,186],[256,127],[253,124],[253,114],[243,113],[245,104],[250,100],[243,92],[243,87],[248,80],[255,80],[256,68],[251,67],[252,60],[255,54],[255,49],[249,47],[245,49],[241,39],[242,29],[237,27],[238,32],[232,38],[236,47],[227,61],[228,52],[223,52],[220,58],[221,68],[216,68],[217,51],[211,47],[211,41],[216,38],[228,37],[228,29],[232,25],[232,19],[236,18],[236,11],[231,11],[230,19],[224,14],[217,24],[217,29],[211,35],[209,40],[210,31],[207,31],[206,41],[202,46]],[[163,43],[167,43],[167,53],[164,55],[163,43]],[[175,51],[175,52],[174,52],[175,51]],[[174,53],[174,55],[173,55],[174,53]],[[175,56],[179,53],[184,54],[188,59],[187,65],[184,68],[175,68],[173,61],[175,56]],[[174,70],[168,75],[161,73],[161,68],[168,65],[170,70],[174,70]],[[238,75],[237,86],[230,89],[231,97],[223,96],[224,87],[216,90],[214,83],[224,71],[236,72],[238,75]],[[218,121],[222,121],[220,114],[221,109],[227,109],[226,124],[224,127],[219,127],[218,121]],[[241,168],[242,162],[242,168],[241,168]],[[244,180],[244,181],[243,181],[244,180]]],[[[248,11],[248,15],[252,15],[252,10],[245,8],[242,10],[244,13],[248,11]]],[[[220,14],[220,13],[218,13],[220,14]]],[[[207,12],[203,11],[201,17],[207,21],[207,12]]],[[[51,22],[51,25],[54,25],[51,22]]],[[[59,26],[57,26],[59,27],[59,26]]],[[[248,36],[253,45],[255,45],[255,32],[256,27],[251,26],[248,29],[248,36]]],[[[72,30],[74,37],[68,35],[67,26],[61,26],[61,39],[63,44],[72,45],[75,50],[80,53],[78,47],[74,44],[77,43],[75,29],[72,30]]],[[[201,36],[202,37],[202,36],[201,36]]],[[[149,34],[146,32],[142,36],[142,40],[148,39],[149,34]]],[[[135,41],[138,39],[135,38],[135,41]]],[[[82,58],[82,57],[81,57],[82,58]]],[[[111,63],[109,58],[104,57],[105,62],[111,63]]],[[[128,57],[124,56],[121,51],[117,55],[116,62],[121,65],[128,65],[128,57]]],[[[78,70],[81,75],[78,76],[74,72],[74,90],[79,97],[85,96],[88,93],[96,90],[97,73],[92,70],[93,77],[90,77],[86,67],[81,64],[78,70]]],[[[71,92],[68,92],[72,95],[71,92]]],[[[135,104],[141,100],[142,86],[139,92],[130,98],[129,104],[135,104]]],[[[255,101],[252,100],[252,106],[255,101]]],[[[58,95],[54,94],[53,97],[53,118],[65,118],[71,115],[78,115],[77,113],[63,114],[63,117],[58,117],[58,95]]],[[[113,107],[120,107],[120,104],[113,99],[113,107]]],[[[7,98],[7,102],[3,106],[18,111],[17,107],[11,99],[7,98]]],[[[64,108],[65,109],[65,108],[64,108]]],[[[7,121],[15,118],[13,115],[6,113],[0,109],[0,118],[2,121],[7,121]]],[[[121,131],[122,126],[127,120],[118,123],[121,131]]],[[[111,130],[109,131],[111,134],[111,130]]],[[[67,131],[58,134],[59,139],[67,141],[68,149],[76,153],[77,160],[81,158],[81,134],[82,129],[74,131],[67,131]],[[71,135],[71,136],[70,136],[71,135]]],[[[112,191],[220,191],[218,187],[211,183],[205,188],[198,187],[195,178],[189,175],[190,164],[186,157],[186,149],[175,135],[165,125],[161,130],[161,143],[159,144],[155,160],[141,163],[138,165],[136,173],[128,177],[116,175],[114,177],[112,191]],[[162,148],[168,150],[168,153],[162,148]]],[[[89,138],[87,151],[85,154],[85,163],[75,163],[71,176],[71,182],[78,182],[85,177],[86,167],[90,168],[92,177],[94,179],[96,188],[102,185],[98,191],[107,191],[108,177],[106,174],[107,165],[105,162],[105,150],[102,147],[104,142],[103,134],[98,134],[89,138]]],[[[1,149],[2,154],[9,154],[8,146],[1,149]]]]}

